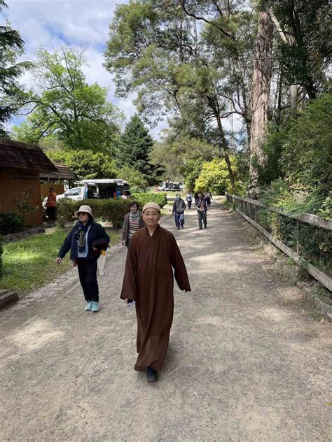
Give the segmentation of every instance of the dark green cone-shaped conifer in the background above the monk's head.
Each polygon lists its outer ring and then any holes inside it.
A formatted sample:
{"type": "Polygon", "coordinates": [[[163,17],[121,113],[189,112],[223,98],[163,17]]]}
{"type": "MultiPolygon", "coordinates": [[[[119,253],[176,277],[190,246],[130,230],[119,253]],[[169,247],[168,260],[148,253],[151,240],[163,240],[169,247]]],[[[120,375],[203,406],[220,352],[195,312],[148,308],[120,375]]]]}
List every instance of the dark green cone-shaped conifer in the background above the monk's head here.
{"type": "Polygon", "coordinates": [[[130,166],[144,176],[150,185],[155,183],[155,166],[149,161],[153,147],[153,138],[138,115],[133,115],[120,136],[118,147],[118,163],[130,166]]]}

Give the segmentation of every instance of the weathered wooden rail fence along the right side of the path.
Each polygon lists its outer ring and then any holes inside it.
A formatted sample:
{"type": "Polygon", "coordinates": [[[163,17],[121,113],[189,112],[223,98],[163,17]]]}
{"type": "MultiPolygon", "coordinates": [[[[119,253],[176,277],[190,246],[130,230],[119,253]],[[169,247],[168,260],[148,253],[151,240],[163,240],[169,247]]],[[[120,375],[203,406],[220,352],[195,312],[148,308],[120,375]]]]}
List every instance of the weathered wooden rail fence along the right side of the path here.
{"type": "Polygon", "coordinates": [[[291,257],[297,264],[300,264],[308,273],[310,273],[311,276],[313,276],[316,280],[319,281],[319,283],[323,284],[328,290],[332,291],[332,278],[327,276],[324,272],[317,269],[317,267],[310,264],[310,262],[307,261],[307,259],[300,257],[298,255],[298,247],[297,252],[294,252],[291,248],[289,248],[287,245],[282,243],[282,241],[279,241],[277,238],[275,238],[272,234],[270,234],[269,231],[264,229],[260,224],[258,224],[258,208],[265,208],[269,211],[279,213],[281,215],[284,215],[288,218],[293,218],[297,220],[296,227],[298,228],[298,222],[305,222],[307,224],[313,224],[318,227],[321,227],[322,229],[332,230],[332,220],[324,220],[322,218],[319,218],[317,215],[312,215],[310,213],[303,213],[303,215],[292,215],[291,213],[284,211],[283,209],[267,206],[266,204],[263,204],[261,201],[256,201],[255,199],[249,199],[249,198],[242,198],[237,197],[237,195],[228,194],[226,192],[226,199],[229,203],[235,204],[235,210],[237,213],[240,213],[240,215],[250,222],[258,231],[260,231],[268,240],[277,245],[277,248],[282,250],[286,255],[291,257]]]}

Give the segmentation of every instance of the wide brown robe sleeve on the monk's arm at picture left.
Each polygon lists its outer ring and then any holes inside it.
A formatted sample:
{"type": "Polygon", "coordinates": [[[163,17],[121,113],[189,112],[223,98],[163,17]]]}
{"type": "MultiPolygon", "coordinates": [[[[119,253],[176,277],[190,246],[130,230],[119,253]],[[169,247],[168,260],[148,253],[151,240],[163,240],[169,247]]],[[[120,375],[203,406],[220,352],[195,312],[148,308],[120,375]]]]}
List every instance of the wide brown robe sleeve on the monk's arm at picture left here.
{"type": "Polygon", "coordinates": [[[137,237],[134,235],[125,262],[125,276],[120,298],[137,299],[137,287],[137,237]]]}

